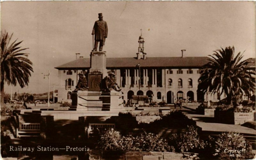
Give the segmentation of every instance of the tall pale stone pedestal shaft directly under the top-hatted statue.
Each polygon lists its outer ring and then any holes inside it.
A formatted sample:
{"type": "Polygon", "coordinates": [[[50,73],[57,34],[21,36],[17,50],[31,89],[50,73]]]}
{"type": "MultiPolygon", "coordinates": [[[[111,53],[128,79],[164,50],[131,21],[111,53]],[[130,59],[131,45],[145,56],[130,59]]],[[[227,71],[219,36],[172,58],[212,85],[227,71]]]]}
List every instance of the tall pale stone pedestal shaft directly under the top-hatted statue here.
{"type": "Polygon", "coordinates": [[[90,72],[99,71],[103,74],[103,78],[108,76],[107,69],[106,69],[106,52],[92,51],[90,56],[91,56],[90,72]]]}

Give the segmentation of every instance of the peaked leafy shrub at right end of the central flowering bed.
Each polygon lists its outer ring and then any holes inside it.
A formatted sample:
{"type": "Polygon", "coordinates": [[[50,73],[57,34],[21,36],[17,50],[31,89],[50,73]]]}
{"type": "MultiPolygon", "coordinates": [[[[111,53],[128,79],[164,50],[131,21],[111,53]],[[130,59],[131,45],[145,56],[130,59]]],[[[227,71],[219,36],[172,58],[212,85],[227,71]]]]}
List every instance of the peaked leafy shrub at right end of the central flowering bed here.
{"type": "Polygon", "coordinates": [[[188,126],[186,133],[174,134],[169,143],[175,151],[181,152],[199,152],[205,146],[204,141],[199,138],[197,129],[193,126],[188,126]]]}

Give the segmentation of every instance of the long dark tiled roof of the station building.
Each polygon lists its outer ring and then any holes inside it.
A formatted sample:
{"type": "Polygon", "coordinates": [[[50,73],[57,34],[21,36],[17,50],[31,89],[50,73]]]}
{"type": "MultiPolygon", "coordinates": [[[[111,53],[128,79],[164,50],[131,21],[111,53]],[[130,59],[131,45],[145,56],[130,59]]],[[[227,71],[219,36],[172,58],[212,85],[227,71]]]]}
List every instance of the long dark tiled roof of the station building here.
{"type": "MultiPolygon", "coordinates": [[[[140,67],[201,67],[208,59],[209,57],[107,58],[106,65],[107,68],[135,67],[138,64],[140,67]]],[[[55,68],[90,68],[90,58],[80,58],[55,68]]]]}

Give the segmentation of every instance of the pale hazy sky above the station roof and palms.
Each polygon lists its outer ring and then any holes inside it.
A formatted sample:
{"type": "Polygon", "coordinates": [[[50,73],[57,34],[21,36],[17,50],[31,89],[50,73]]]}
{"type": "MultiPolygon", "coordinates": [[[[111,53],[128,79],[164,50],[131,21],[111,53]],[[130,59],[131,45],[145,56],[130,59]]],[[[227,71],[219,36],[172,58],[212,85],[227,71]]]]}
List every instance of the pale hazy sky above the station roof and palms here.
{"type": "MultiPolygon", "coordinates": [[[[108,24],[107,57],[135,57],[140,29],[148,57],[180,57],[183,49],[185,57],[208,56],[228,46],[255,57],[255,2],[4,1],[1,31],[23,40],[34,69],[29,85],[12,92],[48,92],[48,70],[50,89],[58,89],[54,67],[75,60],[75,53],[90,57],[98,13],[108,24]]],[[[11,93],[7,84],[4,90],[11,93]]]]}

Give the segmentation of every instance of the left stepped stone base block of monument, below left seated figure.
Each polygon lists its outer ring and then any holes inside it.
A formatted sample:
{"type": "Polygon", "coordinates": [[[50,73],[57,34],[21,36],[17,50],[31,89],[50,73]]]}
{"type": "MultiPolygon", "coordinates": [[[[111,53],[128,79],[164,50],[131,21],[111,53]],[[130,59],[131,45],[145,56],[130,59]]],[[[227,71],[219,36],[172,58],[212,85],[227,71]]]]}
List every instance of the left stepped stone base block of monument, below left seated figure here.
{"type": "Polygon", "coordinates": [[[69,110],[102,110],[101,91],[78,91],[71,99],[69,110]]]}

